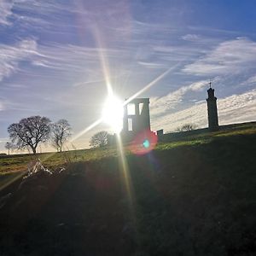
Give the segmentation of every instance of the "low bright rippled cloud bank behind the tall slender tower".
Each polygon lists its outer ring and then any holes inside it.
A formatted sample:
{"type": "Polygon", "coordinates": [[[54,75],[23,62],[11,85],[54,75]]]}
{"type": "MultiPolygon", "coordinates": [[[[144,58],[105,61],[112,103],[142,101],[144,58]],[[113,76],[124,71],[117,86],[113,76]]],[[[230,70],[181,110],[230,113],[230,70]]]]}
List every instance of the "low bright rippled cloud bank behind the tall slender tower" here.
{"type": "MultiPolygon", "coordinates": [[[[250,90],[241,95],[233,95],[219,99],[218,120],[219,125],[255,121],[256,90],[250,90]]],[[[152,129],[154,129],[154,131],[159,129],[175,131],[177,127],[185,123],[193,123],[199,127],[207,127],[207,102],[152,119],[152,129]]]]}

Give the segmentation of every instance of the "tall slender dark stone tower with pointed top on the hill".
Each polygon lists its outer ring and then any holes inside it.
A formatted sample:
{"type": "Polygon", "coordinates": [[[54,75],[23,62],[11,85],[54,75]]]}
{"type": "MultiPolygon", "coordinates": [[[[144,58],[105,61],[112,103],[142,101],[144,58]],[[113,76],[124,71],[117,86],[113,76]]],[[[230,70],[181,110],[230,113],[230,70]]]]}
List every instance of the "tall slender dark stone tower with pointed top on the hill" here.
{"type": "Polygon", "coordinates": [[[214,96],[214,89],[212,89],[212,83],[210,82],[210,88],[207,90],[207,108],[208,108],[208,128],[209,131],[218,131],[218,110],[217,110],[217,98],[214,96]]]}

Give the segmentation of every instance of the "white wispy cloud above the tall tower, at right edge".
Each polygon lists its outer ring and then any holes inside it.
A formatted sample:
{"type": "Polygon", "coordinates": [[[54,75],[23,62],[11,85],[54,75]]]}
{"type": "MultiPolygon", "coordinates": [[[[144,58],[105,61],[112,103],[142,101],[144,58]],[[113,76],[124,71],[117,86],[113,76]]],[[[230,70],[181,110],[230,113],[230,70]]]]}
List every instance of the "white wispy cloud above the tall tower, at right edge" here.
{"type": "Polygon", "coordinates": [[[255,67],[256,43],[247,38],[225,41],[192,64],[183,68],[184,73],[218,75],[241,73],[255,67]]]}

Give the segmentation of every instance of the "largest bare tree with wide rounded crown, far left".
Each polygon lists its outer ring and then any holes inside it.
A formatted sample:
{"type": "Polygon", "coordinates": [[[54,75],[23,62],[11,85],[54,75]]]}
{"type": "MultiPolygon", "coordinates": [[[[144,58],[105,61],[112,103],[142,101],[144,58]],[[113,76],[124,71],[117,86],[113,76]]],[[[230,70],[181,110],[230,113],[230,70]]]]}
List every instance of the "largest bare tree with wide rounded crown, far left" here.
{"type": "Polygon", "coordinates": [[[9,125],[9,137],[17,148],[31,148],[37,154],[39,143],[46,143],[49,139],[50,120],[46,117],[31,116],[21,119],[19,123],[9,125]]]}

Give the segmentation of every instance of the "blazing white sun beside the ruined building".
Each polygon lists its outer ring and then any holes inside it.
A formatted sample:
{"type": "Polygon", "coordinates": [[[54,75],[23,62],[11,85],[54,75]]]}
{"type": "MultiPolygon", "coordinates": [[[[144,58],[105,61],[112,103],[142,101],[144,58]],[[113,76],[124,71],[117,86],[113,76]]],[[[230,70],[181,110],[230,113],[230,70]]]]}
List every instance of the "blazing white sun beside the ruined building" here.
{"type": "Polygon", "coordinates": [[[104,123],[111,126],[113,132],[119,133],[123,129],[124,107],[117,96],[108,96],[102,110],[104,123]]]}

